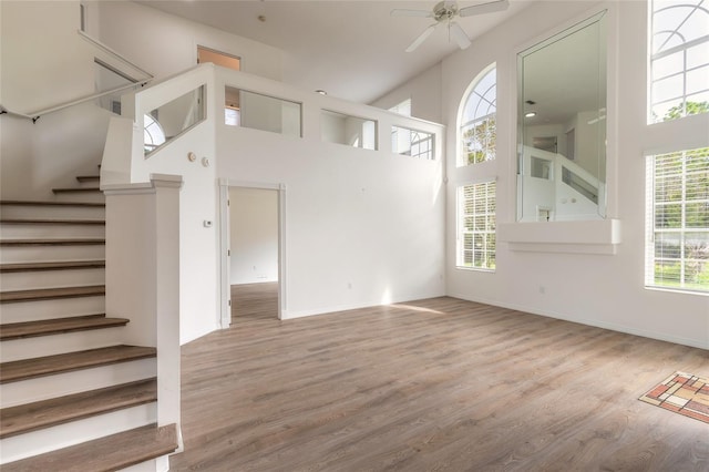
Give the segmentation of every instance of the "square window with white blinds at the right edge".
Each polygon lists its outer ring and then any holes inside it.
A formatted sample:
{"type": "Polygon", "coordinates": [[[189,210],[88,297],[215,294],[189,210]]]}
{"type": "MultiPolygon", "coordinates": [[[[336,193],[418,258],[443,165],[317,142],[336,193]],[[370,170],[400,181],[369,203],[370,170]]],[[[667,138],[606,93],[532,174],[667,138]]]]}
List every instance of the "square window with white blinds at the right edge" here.
{"type": "Polygon", "coordinates": [[[647,161],[646,286],[709,291],[709,147],[647,161]]]}

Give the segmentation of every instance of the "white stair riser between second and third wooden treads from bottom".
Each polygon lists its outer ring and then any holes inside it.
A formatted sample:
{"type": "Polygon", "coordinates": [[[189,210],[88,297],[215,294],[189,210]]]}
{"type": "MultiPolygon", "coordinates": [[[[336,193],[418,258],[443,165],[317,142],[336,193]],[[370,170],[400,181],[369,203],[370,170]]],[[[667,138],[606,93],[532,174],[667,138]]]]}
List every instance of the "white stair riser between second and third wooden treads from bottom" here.
{"type": "Polygon", "coordinates": [[[156,374],[156,362],[154,358],[151,358],[3,383],[0,384],[1,407],[17,407],[33,401],[148,379],[156,374]]]}

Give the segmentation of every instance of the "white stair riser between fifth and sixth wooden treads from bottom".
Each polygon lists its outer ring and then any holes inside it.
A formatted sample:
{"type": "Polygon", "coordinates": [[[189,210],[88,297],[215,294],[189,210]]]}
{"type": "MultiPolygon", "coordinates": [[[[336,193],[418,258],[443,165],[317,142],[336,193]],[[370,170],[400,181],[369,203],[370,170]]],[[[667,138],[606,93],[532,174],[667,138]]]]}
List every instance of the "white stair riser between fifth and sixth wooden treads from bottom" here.
{"type": "Polygon", "coordinates": [[[0,274],[2,291],[104,285],[104,281],[103,268],[0,274]]]}

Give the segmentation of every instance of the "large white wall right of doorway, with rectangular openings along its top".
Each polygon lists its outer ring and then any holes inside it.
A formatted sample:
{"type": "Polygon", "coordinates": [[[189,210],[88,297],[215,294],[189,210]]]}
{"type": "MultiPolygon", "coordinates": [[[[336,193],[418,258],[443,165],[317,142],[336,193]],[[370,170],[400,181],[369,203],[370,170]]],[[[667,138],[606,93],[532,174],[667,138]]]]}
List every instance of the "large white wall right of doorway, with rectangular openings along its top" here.
{"type": "MultiPolygon", "coordinates": [[[[323,143],[320,110],[392,124],[391,113],[232,74],[229,85],[304,103],[304,137],[217,123],[217,176],[285,186],[284,318],[444,291],[443,164],[323,143]]],[[[400,125],[431,125],[404,120],[400,125]]],[[[440,135],[440,133],[439,133],[440,135]]]]}

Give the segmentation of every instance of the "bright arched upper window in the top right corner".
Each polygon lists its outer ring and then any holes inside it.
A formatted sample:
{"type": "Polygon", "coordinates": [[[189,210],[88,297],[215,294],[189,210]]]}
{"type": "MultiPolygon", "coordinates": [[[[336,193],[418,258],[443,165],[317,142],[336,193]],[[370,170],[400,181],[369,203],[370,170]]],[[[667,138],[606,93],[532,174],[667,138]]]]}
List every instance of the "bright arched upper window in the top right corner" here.
{"type": "Polygon", "coordinates": [[[709,111],[709,0],[651,0],[650,123],[709,111]]]}

